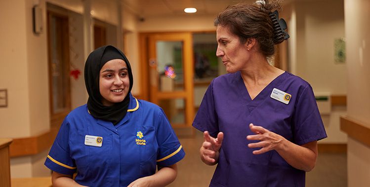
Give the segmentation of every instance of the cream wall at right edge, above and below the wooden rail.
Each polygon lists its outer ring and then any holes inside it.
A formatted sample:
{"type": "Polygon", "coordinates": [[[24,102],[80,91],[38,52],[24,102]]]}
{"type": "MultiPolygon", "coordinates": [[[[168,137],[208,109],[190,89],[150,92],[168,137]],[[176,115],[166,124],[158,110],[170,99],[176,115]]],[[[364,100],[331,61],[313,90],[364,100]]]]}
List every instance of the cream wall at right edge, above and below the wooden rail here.
{"type": "MultiPolygon", "coordinates": [[[[344,0],[347,115],[370,128],[370,0],[344,0]]],[[[348,138],[348,187],[369,187],[370,147],[348,138]]]]}

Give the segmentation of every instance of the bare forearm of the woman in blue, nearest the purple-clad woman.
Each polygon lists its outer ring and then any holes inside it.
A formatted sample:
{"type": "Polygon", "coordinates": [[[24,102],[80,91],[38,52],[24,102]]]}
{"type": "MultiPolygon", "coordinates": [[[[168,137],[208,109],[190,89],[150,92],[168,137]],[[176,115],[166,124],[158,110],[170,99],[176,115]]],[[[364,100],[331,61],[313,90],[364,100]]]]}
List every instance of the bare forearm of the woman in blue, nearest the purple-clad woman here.
{"type": "Polygon", "coordinates": [[[127,187],[164,187],[172,183],[176,176],[177,165],[173,164],[159,169],[154,175],[137,179],[127,187]]]}

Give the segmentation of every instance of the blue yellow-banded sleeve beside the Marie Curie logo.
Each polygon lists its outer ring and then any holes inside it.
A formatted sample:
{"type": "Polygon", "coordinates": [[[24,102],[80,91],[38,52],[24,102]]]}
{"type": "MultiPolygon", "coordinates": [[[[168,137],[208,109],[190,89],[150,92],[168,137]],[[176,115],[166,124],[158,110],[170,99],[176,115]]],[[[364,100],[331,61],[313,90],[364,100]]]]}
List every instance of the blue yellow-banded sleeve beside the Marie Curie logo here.
{"type": "Polygon", "coordinates": [[[156,136],[159,145],[157,165],[173,165],[184,158],[185,151],[162,109],[157,119],[157,125],[156,136]]]}

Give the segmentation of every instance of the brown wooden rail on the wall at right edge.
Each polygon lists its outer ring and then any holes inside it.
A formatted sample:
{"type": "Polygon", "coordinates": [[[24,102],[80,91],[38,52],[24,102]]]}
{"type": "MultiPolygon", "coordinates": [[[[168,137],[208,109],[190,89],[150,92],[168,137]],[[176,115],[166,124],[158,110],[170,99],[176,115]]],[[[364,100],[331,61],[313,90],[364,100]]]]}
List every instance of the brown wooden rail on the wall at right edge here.
{"type": "Polygon", "coordinates": [[[360,143],[370,147],[370,128],[365,123],[348,116],[340,117],[340,130],[360,143]]]}

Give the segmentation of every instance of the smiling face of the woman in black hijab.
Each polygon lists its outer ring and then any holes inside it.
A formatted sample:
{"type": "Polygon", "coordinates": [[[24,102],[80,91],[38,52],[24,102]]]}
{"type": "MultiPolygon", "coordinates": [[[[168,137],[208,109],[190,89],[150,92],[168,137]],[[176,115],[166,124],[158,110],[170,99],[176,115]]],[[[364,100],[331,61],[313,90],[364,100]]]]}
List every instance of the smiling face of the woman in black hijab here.
{"type": "Polygon", "coordinates": [[[122,59],[104,64],[99,73],[99,91],[104,106],[122,102],[130,87],[127,65],[122,59]]]}

